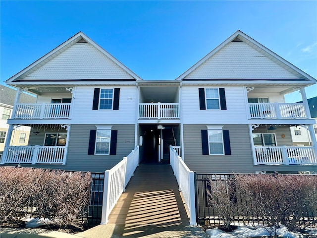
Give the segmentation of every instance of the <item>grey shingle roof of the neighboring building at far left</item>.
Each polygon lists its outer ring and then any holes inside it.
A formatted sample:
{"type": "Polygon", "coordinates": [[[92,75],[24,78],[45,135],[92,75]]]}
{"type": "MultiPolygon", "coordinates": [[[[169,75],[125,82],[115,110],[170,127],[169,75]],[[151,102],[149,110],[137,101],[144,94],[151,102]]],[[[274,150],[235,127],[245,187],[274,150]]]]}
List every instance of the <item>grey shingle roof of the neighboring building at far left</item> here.
{"type": "MultiPolygon", "coordinates": [[[[13,106],[16,90],[0,85],[0,103],[13,106]]],[[[20,103],[35,103],[36,97],[22,93],[20,96],[20,103]]]]}

